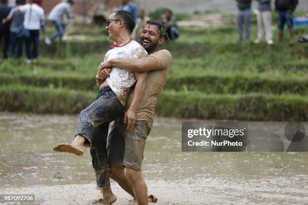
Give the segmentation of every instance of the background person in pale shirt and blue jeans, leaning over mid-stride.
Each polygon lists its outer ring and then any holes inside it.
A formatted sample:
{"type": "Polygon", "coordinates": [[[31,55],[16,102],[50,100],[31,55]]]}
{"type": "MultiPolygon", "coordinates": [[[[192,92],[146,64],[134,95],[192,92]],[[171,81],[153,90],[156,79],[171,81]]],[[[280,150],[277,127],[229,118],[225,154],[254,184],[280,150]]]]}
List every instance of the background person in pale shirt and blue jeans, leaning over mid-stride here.
{"type": "Polygon", "coordinates": [[[65,24],[63,23],[63,16],[66,14],[68,19],[73,19],[73,15],[71,12],[71,7],[73,6],[73,0],[67,0],[66,2],[62,2],[56,5],[48,15],[47,20],[51,21],[55,29],[57,30],[49,38],[45,38],[45,43],[50,45],[57,37],[59,37],[60,41],[62,41],[62,37],[65,31],[65,24]]]}

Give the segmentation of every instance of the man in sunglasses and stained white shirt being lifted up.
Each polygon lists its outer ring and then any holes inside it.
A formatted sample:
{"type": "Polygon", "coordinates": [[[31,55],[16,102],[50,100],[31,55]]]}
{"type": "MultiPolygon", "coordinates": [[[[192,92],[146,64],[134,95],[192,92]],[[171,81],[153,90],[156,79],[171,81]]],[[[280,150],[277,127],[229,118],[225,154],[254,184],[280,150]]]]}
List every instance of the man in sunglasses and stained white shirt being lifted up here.
{"type": "MultiPolygon", "coordinates": [[[[110,15],[106,29],[109,39],[114,41],[113,49],[105,55],[105,61],[110,59],[140,58],[147,55],[144,48],[131,39],[135,23],[131,14],[118,11],[110,15]]],[[[143,93],[146,72],[132,72],[114,66],[110,77],[100,84],[97,99],[81,112],[80,123],[71,144],[58,144],[53,150],[83,155],[82,146],[90,145],[92,165],[96,173],[97,187],[101,190],[110,187],[109,166],[107,163],[107,135],[109,123],[119,118],[125,109],[128,92],[136,82],[138,90],[132,102],[136,107],[143,93]]],[[[113,203],[116,196],[110,192],[104,193],[104,202],[113,203]],[[107,194],[107,195],[106,195],[107,194]]]]}

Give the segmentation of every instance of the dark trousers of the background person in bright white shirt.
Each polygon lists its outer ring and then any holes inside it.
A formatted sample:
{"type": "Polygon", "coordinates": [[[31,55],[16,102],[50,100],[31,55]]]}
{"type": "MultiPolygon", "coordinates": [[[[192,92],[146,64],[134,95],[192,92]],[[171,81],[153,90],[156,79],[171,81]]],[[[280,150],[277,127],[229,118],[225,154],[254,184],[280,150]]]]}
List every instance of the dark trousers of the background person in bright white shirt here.
{"type": "Polygon", "coordinates": [[[40,31],[39,30],[29,30],[29,31],[30,31],[30,38],[26,39],[26,54],[28,59],[36,59],[38,56],[40,31]]]}

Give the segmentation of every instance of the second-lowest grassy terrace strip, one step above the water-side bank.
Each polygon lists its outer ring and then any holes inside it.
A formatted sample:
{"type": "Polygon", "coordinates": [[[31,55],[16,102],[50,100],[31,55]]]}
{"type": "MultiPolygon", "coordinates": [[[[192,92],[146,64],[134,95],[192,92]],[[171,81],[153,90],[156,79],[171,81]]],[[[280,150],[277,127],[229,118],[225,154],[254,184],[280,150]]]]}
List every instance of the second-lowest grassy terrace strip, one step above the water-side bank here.
{"type": "MultiPolygon", "coordinates": [[[[278,74],[278,73],[277,73],[278,74]]],[[[207,73],[202,75],[170,75],[165,88],[170,90],[196,90],[203,93],[241,94],[250,92],[261,93],[296,93],[308,94],[308,81],[302,77],[282,77],[249,75],[243,73],[218,74],[207,73]]],[[[0,74],[0,85],[5,84],[31,85],[50,88],[70,88],[79,90],[97,90],[95,76],[80,75],[78,73],[55,72],[52,74],[0,74]]]]}

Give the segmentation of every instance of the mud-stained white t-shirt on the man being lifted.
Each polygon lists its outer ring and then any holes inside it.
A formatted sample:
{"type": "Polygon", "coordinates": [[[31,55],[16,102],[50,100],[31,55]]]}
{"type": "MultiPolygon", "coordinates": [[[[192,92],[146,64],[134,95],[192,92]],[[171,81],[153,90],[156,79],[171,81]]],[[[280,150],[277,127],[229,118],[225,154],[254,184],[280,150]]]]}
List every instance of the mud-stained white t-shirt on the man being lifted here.
{"type": "MultiPolygon", "coordinates": [[[[110,59],[142,58],[144,56],[147,56],[145,49],[136,41],[131,41],[122,47],[115,47],[109,50],[105,55],[105,61],[110,59]]],[[[112,91],[118,96],[121,103],[125,106],[128,92],[136,83],[134,72],[112,67],[110,76],[106,81],[112,91]]]]}

